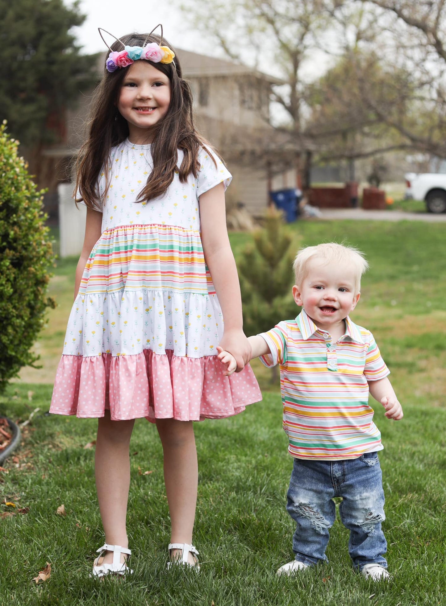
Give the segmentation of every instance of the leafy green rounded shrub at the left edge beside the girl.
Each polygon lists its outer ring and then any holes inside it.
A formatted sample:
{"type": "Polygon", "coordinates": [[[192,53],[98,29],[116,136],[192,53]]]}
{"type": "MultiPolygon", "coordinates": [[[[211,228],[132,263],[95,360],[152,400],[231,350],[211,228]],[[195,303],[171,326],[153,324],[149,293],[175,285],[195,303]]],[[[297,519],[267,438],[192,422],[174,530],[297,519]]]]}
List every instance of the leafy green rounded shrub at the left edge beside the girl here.
{"type": "Polygon", "coordinates": [[[38,361],[30,348],[45,323],[53,252],[42,193],[18,155],[18,141],[0,125],[0,393],[22,366],[38,361]]]}

